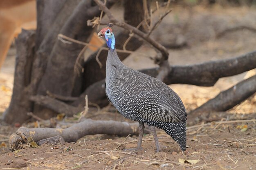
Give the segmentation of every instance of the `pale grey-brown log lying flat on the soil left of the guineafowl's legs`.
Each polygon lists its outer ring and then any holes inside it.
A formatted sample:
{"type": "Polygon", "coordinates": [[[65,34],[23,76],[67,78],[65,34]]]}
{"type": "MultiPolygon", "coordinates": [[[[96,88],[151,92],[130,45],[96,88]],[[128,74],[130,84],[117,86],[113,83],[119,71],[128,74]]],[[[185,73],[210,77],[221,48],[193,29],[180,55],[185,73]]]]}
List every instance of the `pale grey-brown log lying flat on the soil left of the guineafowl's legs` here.
{"type": "MultiPolygon", "coordinates": [[[[146,130],[146,133],[149,133],[146,130]]],[[[119,122],[119,121],[102,121],[86,119],[78,124],[62,129],[62,128],[26,128],[20,127],[15,133],[10,136],[9,144],[13,149],[21,149],[23,143],[37,142],[54,136],[61,136],[66,142],[76,142],[85,135],[107,134],[127,136],[138,135],[138,124],[119,122]]]]}

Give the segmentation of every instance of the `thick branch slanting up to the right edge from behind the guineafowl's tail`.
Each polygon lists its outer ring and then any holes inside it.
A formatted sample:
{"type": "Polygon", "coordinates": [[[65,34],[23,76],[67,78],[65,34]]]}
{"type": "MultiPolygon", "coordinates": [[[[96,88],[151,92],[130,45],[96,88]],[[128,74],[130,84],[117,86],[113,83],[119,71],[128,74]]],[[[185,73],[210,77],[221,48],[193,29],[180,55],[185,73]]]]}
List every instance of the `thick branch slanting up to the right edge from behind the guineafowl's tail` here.
{"type": "Polygon", "coordinates": [[[256,75],[243,80],[226,91],[222,91],[215,98],[191,111],[189,117],[194,117],[201,113],[229,110],[254,93],[256,93],[256,75]]]}

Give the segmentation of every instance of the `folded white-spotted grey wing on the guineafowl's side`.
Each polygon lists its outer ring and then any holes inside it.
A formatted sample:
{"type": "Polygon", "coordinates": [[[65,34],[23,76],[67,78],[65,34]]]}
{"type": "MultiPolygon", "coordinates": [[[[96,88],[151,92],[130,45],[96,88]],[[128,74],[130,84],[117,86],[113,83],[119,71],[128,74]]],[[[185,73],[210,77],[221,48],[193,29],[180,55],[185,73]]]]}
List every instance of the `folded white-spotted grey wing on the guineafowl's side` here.
{"type": "Polygon", "coordinates": [[[126,88],[121,88],[120,91],[122,91],[121,94],[124,98],[128,96],[132,109],[138,115],[153,121],[186,121],[184,105],[171,88],[158,79],[139,71],[130,70],[130,72],[126,72],[126,77],[129,79],[122,79],[123,74],[120,73],[121,76],[117,76],[115,81],[120,87],[129,84],[126,88]],[[137,89],[137,92],[130,97],[130,91],[134,90],[133,88],[137,89]]]}

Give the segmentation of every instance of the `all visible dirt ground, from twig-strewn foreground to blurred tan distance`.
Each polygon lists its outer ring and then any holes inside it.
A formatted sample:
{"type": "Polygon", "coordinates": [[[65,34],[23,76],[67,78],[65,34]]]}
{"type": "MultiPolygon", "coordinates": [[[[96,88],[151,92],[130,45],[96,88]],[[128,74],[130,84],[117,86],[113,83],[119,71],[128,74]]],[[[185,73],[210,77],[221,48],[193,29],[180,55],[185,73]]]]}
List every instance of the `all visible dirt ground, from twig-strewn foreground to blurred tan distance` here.
{"type": "MultiPolygon", "coordinates": [[[[236,26],[250,26],[256,29],[256,10],[248,7],[173,7],[173,12],[163,20],[153,37],[162,44],[182,38],[187,46],[169,50],[169,62],[173,65],[194,64],[208,60],[235,57],[256,50],[256,31],[238,29],[217,38],[218,33],[236,26]],[[180,31],[182,30],[182,31],[180,31]],[[168,34],[167,34],[168,33],[168,34]],[[162,36],[161,35],[166,35],[162,36]],[[169,37],[167,35],[170,35],[169,37]],[[177,35],[181,37],[177,37],[177,35]]],[[[168,44],[168,43],[167,43],[168,44]]],[[[154,56],[148,45],[141,46],[138,53],[154,56]]],[[[15,49],[9,51],[0,71],[0,114],[8,107],[13,84],[15,49]]],[[[144,56],[133,54],[124,63],[132,68],[156,66],[144,56]]],[[[170,87],[180,95],[189,112],[215,97],[237,82],[255,75],[252,70],[240,75],[221,78],[213,87],[173,84],[170,87]]],[[[95,109],[94,109],[95,110],[95,109]]],[[[89,110],[86,118],[95,120],[129,121],[119,115],[112,106],[95,112],[89,110]]],[[[0,122],[0,168],[10,169],[88,169],[88,170],[256,170],[256,95],[227,113],[212,114],[215,121],[201,122],[187,127],[187,154],[182,155],[178,145],[162,130],[157,130],[161,152],[155,153],[151,134],[144,135],[142,150],[124,151],[137,146],[137,136],[125,137],[90,135],[76,143],[63,145],[25,147],[10,152],[9,135],[17,127],[0,122]],[[236,122],[220,121],[237,120],[236,122]],[[125,140],[125,141],[124,141],[125,140]],[[121,144],[121,142],[123,142],[121,144]],[[119,146],[121,144],[121,146],[119,146]],[[117,146],[119,146],[117,148],[117,146]],[[117,148],[117,149],[116,149],[117,148]],[[27,167],[27,168],[26,168],[27,167]]],[[[67,121],[67,119],[64,119],[67,121]]],[[[193,120],[188,120],[193,121],[193,120]]],[[[23,126],[34,127],[35,122],[23,126]]],[[[43,122],[39,122],[43,126],[43,122]]]]}

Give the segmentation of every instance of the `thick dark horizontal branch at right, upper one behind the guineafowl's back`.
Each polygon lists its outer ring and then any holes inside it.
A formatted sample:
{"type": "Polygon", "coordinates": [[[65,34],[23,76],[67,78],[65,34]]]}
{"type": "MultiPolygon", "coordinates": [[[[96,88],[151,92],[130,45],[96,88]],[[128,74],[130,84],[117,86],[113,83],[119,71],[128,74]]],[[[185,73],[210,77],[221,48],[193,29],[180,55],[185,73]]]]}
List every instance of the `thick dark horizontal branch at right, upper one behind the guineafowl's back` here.
{"type": "MultiPolygon", "coordinates": [[[[171,66],[171,72],[165,77],[166,84],[192,84],[213,86],[219,78],[237,75],[256,68],[256,51],[224,59],[203,62],[187,66],[171,66]]],[[[156,77],[158,68],[140,70],[156,77]]]]}

